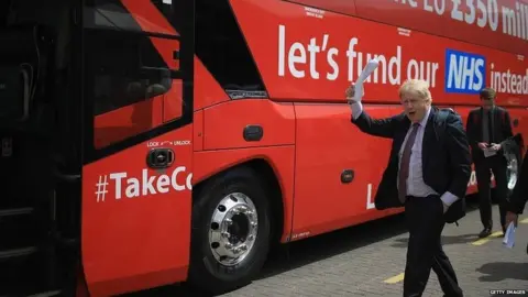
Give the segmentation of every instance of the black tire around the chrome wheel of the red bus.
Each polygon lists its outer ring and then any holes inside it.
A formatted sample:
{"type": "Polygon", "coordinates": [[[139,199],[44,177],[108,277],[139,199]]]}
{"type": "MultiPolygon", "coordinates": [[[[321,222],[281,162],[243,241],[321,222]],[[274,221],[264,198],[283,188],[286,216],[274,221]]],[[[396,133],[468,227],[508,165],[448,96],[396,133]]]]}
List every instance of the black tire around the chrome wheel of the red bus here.
{"type": "Polygon", "coordinates": [[[261,271],[270,251],[271,209],[265,188],[246,167],[235,168],[200,186],[193,204],[189,284],[201,293],[223,294],[249,284],[261,271]],[[253,201],[258,226],[253,248],[242,262],[226,266],[213,256],[209,243],[211,217],[229,194],[242,193],[253,201]]]}

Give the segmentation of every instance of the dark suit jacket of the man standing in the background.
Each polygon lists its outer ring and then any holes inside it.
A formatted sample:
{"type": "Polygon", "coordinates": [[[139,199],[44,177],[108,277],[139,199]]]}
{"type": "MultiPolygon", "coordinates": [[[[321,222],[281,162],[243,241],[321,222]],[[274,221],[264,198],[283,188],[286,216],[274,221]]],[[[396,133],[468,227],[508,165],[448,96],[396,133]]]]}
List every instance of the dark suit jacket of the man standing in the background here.
{"type": "MultiPolygon", "coordinates": [[[[476,108],[470,111],[468,117],[468,139],[470,140],[473,161],[479,162],[484,158],[484,153],[479,148],[479,142],[482,142],[482,113],[483,108],[476,108]]],[[[504,142],[514,135],[512,132],[512,121],[506,109],[495,107],[493,110],[493,141],[504,146],[504,142]]],[[[490,135],[491,136],[491,135],[490,135]]]]}

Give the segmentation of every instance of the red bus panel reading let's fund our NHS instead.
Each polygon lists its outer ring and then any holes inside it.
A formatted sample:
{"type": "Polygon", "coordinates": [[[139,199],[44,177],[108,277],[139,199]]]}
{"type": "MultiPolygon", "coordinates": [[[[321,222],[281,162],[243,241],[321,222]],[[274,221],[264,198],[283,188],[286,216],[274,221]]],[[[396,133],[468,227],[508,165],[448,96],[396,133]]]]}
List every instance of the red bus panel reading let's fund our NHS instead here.
{"type": "Polygon", "coordinates": [[[497,90],[498,105],[528,103],[522,55],[286,1],[231,3],[273,99],[343,102],[346,86],[377,56],[364,102],[398,103],[398,87],[421,78],[438,103],[480,105],[479,91],[486,86],[497,90]]]}

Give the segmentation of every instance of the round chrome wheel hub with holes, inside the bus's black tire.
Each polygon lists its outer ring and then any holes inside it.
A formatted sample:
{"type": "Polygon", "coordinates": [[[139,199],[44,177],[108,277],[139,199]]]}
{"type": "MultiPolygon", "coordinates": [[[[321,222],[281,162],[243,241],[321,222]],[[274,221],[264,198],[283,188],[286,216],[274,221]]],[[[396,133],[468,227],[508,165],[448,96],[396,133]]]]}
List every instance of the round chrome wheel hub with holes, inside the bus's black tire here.
{"type": "Polygon", "coordinates": [[[255,205],[242,193],[230,194],[218,204],[209,229],[209,246],[222,265],[233,266],[250,254],[258,230],[255,205]]]}

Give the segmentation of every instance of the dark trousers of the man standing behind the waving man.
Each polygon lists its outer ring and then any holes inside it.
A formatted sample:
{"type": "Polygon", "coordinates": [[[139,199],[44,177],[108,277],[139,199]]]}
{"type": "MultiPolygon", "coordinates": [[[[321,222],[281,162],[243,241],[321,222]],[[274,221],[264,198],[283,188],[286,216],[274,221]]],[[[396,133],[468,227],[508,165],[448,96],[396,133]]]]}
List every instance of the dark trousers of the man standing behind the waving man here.
{"type": "Polygon", "coordinates": [[[490,169],[493,172],[495,177],[495,194],[498,199],[498,212],[501,218],[501,227],[505,224],[506,218],[506,204],[508,196],[508,183],[506,179],[506,158],[499,153],[491,157],[482,157],[475,160],[475,174],[476,174],[476,184],[479,188],[479,198],[480,198],[480,211],[481,211],[481,221],[484,228],[493,228],[493,218],[492,218],[492,197],[490,190],[490,183],[492,175],[490,169]]]}

